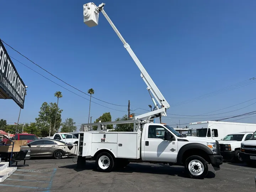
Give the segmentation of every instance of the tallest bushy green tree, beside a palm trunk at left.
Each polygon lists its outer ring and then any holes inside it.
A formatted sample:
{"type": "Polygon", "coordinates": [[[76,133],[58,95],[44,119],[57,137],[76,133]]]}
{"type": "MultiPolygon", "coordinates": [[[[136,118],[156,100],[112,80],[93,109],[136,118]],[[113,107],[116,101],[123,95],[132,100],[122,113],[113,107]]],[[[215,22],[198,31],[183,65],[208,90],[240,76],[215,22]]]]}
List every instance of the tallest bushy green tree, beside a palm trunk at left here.
{"type": "Polygon", "coordinates": [[[53,129],[56,116],[56,125],[55,128],[59,130],[61,124],[61,113],[63,110],[60,110],[57,107],[57,103],[44,102],[40,108],[38,117],[36,118],[36,127],[41,131],[41,136],[46,137],[47,135],[53,135],[56,130],[53,129]]]}

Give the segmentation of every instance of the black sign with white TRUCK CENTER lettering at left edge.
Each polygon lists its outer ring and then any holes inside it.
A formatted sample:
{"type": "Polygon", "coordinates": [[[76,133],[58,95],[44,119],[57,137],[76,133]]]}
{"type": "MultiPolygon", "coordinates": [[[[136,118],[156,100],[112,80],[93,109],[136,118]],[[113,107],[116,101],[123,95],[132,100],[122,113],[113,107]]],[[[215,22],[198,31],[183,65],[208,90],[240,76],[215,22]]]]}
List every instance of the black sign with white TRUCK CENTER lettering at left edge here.
{"type": "Polygon", "coordinates": [[[24,108],[25,84],[0,39],[0,98],[13,99],[24,108]]]}

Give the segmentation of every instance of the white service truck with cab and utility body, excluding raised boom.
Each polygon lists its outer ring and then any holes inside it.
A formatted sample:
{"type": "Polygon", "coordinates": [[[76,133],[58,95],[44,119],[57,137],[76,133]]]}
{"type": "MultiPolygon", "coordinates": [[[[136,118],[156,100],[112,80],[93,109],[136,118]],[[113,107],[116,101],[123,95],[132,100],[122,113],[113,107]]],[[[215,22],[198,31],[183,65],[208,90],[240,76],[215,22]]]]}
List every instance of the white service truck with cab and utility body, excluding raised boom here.
{"type": "Polygon", "coordinates": [[[150,162],[185,166],[193,178],[205,177],[208,165],[219,170],[222,162],[217,140],[186,137],[174,128],[158,123],[146,123],[142,132],[78,132],[79,145],[64,150],[79,155],[78,165],[96,160],[97,169],[110,172],[129,162],[150,162]],[[159,137],[159,129],[164,129],[159,137]]]}

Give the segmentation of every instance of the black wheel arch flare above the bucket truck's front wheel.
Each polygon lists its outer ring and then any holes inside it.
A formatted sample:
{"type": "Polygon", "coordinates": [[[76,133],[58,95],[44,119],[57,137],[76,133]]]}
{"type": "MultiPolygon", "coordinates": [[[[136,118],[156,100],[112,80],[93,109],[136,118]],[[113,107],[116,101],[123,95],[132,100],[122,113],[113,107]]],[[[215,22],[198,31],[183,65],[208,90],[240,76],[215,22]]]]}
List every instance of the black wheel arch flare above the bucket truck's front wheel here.
{"type": "Polygon", "coordinates": [[[209,155],[213,155],[213,151],[206,145],[201,144],[201,143],[188,143],[186,145],[183,145],[180,150],[178,151],[177,155],[177,162],[181,162],[182,156],[185,153],[185,151],[189,149],[201,149],[205,151],[209,155]]]}

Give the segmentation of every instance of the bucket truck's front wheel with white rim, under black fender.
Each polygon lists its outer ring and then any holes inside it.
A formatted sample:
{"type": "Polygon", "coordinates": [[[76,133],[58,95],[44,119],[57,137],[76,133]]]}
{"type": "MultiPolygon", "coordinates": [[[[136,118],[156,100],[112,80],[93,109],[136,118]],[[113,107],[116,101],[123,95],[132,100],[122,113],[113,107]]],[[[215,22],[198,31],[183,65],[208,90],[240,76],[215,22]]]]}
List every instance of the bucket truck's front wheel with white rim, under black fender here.
{"type": "Polygon", "coordinates": [[[193,155],[185,161],[185,172],[192,178],[204,178],[208,174],[208,165],[202,157],[193,155]]]}

